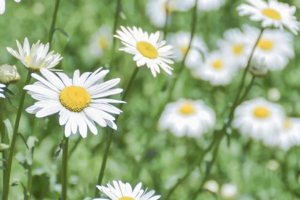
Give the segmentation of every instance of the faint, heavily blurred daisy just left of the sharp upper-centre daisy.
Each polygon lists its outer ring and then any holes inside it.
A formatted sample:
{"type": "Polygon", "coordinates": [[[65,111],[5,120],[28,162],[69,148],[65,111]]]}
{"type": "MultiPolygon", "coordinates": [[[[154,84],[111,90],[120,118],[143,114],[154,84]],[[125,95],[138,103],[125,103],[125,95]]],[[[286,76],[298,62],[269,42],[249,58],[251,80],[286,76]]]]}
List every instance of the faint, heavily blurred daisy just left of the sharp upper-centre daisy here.
{"type": "Polygon", "coordinates": [[[102,25],[89,39],[89,51],[93,56],[99,57],[110,48],[112,31],[108,24],[102,25]]]}

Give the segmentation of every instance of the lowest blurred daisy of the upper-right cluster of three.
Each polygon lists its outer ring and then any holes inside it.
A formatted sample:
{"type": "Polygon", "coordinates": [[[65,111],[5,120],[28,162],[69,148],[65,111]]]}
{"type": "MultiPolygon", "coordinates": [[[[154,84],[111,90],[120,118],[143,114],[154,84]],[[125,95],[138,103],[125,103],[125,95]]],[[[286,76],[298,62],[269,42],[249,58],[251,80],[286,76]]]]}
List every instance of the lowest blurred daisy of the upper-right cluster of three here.
{"type": "Polygon", "coordinates": [[[202,66],[193,70],[192,75],[202,80],[208,80],[211,85],[227,85],[236,74],[236,66],[232,58],[220,51],[208,53],[202,66]]]}

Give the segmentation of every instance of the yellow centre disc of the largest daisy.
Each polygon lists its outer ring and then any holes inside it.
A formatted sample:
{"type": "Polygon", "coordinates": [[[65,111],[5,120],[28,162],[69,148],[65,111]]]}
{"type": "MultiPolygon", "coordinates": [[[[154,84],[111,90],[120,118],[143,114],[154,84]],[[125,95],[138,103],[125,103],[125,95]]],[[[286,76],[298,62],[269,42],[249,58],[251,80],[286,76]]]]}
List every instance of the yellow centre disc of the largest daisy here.
{"type": "Polygon", "coordinates": [[[65,108],[79,112],[90,103],[90,94],[83,87],[67,86],[61,90],[59,100],[65,108]]]}

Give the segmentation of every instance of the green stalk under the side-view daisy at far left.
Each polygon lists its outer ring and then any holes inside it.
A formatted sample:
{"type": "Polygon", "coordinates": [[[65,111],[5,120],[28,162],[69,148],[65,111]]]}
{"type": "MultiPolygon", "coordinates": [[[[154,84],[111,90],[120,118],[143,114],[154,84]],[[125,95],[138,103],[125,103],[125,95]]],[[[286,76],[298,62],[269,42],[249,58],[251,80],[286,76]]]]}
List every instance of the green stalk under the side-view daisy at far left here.
{"type": "MultiPolygon", "coordinates": [[[[29,83],[30,79],[31,79],[31,72],[28,71],[24,86],[29,83]]],[[[17,113],[16,113],[12,138],[11,138],[11,142],[10,142],[10,150],[9,150],[8,159],[7,159],[7,163],[6,163],[7,167],[5,169],[6,175],[5,175],[5,182],[3,184],[2,200],[8,199],[9,179],[10,179],[10,171],[11,171],[11,165],[12,165],[12,157],[13,157],[13,151],[14,151],[15,141],[16,141],[16,137],[17,137],[17,130],[18,130],[18,126],[20,123],[22,108],[23,108],[23,104],[24,104],[25,94],[26,94],[26,90],[22,89],[21,98],[20,98],[19,106],[18,106],[17,113]]]]}

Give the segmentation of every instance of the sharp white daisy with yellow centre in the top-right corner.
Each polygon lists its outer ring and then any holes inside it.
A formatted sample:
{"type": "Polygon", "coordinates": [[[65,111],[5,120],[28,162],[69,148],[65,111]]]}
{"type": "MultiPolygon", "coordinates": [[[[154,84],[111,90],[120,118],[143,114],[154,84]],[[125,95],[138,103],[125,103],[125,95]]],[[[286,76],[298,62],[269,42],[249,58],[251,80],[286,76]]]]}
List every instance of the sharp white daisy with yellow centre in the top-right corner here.
{"type": "Polygon", "coordinates": [[[298,34],[300,22],[297,21],[294,13],[295,6],[281,3],[277,0],[246,0],[249,4],[242,3],[237,7],[240,16],[250,15],[253,21],[261,21],[262,27],[274,26],[283,29],[287,27],[292,33],[298,34]]]}

